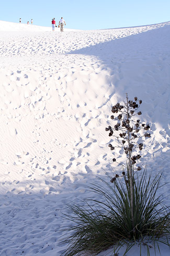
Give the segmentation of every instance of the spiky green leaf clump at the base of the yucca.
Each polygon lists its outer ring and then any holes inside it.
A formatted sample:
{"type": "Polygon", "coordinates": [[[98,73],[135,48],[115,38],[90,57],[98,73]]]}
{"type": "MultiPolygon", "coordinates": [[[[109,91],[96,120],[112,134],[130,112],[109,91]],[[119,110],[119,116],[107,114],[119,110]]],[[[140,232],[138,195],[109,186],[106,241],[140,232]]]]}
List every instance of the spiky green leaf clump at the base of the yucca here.
{"type": "Polygon", "coordinates": [[[126,245],[125,255],[136,242],[146,246],[151,241],[154,244],[157,241],[168,244],[170,211],[163,204],[162,195],[156,196],[162,187],[161,178],[162,175],[157,175],[151,180],[151,174],[147,178],[144,170],[134,180],[134,227],[131,221],[131,192],[125,179],[124,182],[116,179],[114,186],[102,179],[99,179],[100,183],[92,184],[89,190],[97,198],[87,198],[80,204],[68,205],[69,213],[65,218],[74,225],[62,228],[67,236],[60,242],[69,244],[62,255],[96,255],[110,247],[116,253],[122,245],[126,245]]]}

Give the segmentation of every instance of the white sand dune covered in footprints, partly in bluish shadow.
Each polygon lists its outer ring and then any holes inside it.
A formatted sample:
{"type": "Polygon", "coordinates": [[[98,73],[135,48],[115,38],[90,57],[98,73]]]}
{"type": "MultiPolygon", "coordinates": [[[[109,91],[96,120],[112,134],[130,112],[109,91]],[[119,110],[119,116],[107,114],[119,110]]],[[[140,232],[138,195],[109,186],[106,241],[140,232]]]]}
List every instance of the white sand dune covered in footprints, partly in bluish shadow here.
{"type": "Polygon", "coordinates": [[[0,255],[59,256],[66,248],[57,243],[66,203],[112,173],[105,127],[126,92],[142,99],[141,119],[151,123],[141,161],[170,179],[170,22],[64,30],[0,21],[0,255]]]}

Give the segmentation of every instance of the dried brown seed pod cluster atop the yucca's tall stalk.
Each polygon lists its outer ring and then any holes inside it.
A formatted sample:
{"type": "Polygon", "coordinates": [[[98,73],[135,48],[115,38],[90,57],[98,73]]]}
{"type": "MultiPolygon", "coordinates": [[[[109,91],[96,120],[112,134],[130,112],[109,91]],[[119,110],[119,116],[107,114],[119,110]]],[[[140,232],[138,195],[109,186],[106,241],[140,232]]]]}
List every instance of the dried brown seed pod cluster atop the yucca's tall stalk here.
{"type": "MultiPolygon", "coordinates": [[[[134,97],[134,101],[128,100],[124,104],[117,103],[112,106],[111,112],[115,115],[111,115],[111,120],[115,121],[115,125],[111,127],[110,125],[106,127],[106,131],[109,131],[109,136],[113,136],[115,140],[119,142],[119,146],[112,145],[111,143],[108,145],[111,151],[114,151],[116,147],[121,147],[124,150],[124,153],[128,158],[128,168],[141,170],[141,166],[135,166],[141,158],[140,153],[136,153],[138,151],[142,151],[143,143],[141,140],[143,138],[151,137],[151,134],[145,131],[150,129],[149,124],[142,123],[140,119],[135,119],[135,116],[139,116],[142,114],[141,111],[138,111],[140,105],[142,104],[142,100],[138,100],[137,97],[134,97]],[[143,131],[141,135],[141,130],[143,131]]],[[[114,157],[112,159],[113,162],[117,162],[117,159],[114,157]]],[[[122,173],[124,176],[125,173],[122,173]]],[[[116,178],[120,177],[118,174],[115,175],[114,178],[111,179],[111,182],[114,182],[116,178]]],[[[128,183],[128,180],[127,180],[128,183]]]]}

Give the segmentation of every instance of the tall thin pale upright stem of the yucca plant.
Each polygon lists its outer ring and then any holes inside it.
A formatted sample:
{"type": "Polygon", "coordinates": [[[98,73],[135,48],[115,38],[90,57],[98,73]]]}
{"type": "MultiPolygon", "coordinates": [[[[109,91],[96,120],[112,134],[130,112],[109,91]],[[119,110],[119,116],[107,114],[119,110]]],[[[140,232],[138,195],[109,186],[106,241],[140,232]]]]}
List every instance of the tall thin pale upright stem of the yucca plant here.
{"type": "MultiPolygon", "coordinates": [[[[127,98],[127,120],[129,120],[129,102],[128,93],[126,93],[127,98]]],[[[134,217],[133,217],[133,178],[132,177],[132,164],[131,164],[131,150],[130,150],[130,131],[128,130],[128,160],[129,160],[129,182],[130,182],[130,208],[131,208],[131,218],[132,218],[132,228],[134,228],[134,217]]]]}

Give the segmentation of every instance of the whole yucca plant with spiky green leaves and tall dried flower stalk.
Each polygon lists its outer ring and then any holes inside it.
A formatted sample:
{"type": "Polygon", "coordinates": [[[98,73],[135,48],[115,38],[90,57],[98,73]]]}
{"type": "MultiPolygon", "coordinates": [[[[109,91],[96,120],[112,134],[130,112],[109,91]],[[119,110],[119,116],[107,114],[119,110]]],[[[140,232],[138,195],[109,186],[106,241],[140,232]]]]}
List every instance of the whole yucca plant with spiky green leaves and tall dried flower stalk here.
{"type": "MultiPolygon", "coordinates": [[[[80,204],[67,205],[69,212],[65,218],[74,225],[61,229],[66,235],[60,242],[69,244],[62,255],[96,255],[111,246],[117,253],[124,244],[127,246],[125,255],[137,241],[148,247],[148,255],[150,241],[154,242],[154,247],[157,241],[169,246],[170,211],[163,204],[162,195],[157,196],[158,189],[162,187],[162,174],[152,179],[151,174],[147,175],[146,168],[138,172],[142,167],[136,165],[141,157],[143,138],[151,136],[145,132],[150,125],[135,119],[142,114],[138,111],[141,103],[137,97],[129,101],[127,94],[123,105],[117,103],[112,106],[112,112],[117,115],[112,115],[111,120],[116,124],[114,128],[108,126],[105,130],[118,145],[109,143],[108,146],[111,151],[116,146],[122,147],[127,165],[120,163],[121,176],[107,174],[110,184],[98,178],[98,183],[88,187],[95,197],[86,198],[80,204]]],[[[117,163],[115,157],[113,162],[117,163]]]]}

